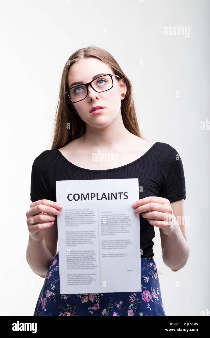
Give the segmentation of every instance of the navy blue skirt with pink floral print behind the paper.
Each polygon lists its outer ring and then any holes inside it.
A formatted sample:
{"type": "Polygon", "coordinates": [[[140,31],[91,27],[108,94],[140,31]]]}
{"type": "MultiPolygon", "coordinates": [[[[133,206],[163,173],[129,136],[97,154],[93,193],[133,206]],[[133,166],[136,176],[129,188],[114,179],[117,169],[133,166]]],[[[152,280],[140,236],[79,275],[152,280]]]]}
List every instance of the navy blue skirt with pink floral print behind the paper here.
{"type": "Polygon", "coordinates": [[[141,258],[142,291],[60,294],[59,257],[53,257],[34,316],[166,316],[155,261],[141,258]]]}

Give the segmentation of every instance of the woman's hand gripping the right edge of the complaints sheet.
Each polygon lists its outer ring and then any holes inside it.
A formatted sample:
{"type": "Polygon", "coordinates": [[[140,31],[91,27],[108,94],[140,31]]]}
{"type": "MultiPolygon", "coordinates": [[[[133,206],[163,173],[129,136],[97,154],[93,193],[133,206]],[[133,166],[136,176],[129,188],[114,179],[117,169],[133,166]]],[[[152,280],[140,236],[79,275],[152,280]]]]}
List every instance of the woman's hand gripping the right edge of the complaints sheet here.
{"type": "Polygon", "coordinates": [[[168,199],[148,196],[133,202],[132,206],[136,208],[135,214],[143,213],[142,217],[147,218],[151,225],[161,228],[163,234],[172,234],[177,221],[168,199]]]}

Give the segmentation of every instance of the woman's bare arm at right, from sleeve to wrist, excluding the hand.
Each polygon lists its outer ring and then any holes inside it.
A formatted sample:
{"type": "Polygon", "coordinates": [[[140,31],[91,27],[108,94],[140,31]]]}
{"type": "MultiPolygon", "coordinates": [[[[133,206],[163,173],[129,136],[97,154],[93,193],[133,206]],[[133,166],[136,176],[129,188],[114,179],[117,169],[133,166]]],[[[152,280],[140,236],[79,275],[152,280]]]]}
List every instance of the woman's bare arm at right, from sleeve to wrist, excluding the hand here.
{"type": "Polygon", "coordinates": [[[159,228],[162,259],[172,271],[178,271],[187,263],[190,252],[184,223],[184,199],[170,204],[176,218],[176,224],[170,235],[163,234],[161,228],[159,228]]]}

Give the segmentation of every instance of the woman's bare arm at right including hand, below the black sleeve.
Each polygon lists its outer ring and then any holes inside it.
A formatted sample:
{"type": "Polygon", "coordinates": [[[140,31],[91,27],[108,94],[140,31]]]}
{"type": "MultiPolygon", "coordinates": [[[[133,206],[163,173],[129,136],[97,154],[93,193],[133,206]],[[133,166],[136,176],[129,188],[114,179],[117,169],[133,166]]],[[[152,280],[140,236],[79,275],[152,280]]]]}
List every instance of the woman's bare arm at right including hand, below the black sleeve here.
{"type": "Polygon", "coordinates": [[[148,196],[132,206],[136,208],[135,214],[142,213],[151,225],[159,227],[163,262],[172,271],[183,268],[190,251],[184,225],[184,199],[170,203],[164,197],[148,196]]]}

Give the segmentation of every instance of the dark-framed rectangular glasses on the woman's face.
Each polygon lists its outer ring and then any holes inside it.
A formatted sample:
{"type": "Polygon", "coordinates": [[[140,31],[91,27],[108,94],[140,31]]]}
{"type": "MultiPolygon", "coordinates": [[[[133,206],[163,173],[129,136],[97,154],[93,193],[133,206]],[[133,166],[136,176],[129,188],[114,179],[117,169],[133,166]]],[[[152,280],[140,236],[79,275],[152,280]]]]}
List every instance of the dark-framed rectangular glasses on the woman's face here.
{"type": "Polygon", "coordinates": [[[106,92],[107,90],[110,90],[114,86],[112,78],[113,75],[120,77],[116,74],[102,75],[96,77],[96,79],[88,83],[78,84],[77,86],[71,87],[66,92],[64,92],[64,94],[67,94],[71,102],[75,103],[82,101],[87,97],[88,86],[91,86],[97,93],[106,92]]]}

